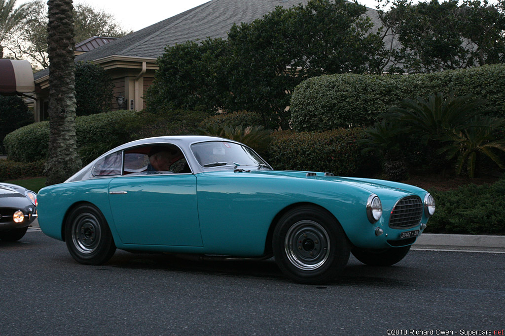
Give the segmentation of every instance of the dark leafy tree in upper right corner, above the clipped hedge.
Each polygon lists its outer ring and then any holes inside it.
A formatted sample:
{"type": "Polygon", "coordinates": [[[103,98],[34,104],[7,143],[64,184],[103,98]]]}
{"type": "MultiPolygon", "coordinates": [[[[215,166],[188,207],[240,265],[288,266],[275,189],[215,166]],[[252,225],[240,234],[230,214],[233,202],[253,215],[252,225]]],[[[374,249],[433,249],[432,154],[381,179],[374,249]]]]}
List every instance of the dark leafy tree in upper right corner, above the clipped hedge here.
{"type": "Polygon", "coordinates": [[[400,65],[391,70],[436,72],[505,61],[504,4],[386,0],[378,8],[383,34],[401,42],[390,50],[391,60],[400,65]]]}

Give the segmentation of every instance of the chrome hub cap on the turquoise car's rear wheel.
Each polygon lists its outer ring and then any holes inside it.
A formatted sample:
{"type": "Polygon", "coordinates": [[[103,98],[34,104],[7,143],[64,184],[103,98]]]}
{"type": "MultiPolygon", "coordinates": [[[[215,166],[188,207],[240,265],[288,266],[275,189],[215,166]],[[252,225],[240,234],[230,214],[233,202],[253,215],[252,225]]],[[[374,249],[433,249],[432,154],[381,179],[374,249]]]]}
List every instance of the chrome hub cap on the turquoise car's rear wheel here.
{"type": "Polygon", "coordinates": [[[93,252],[98,246],[101,235],[98,220],[92,214],[80,214],[72,225],[72,241],[81,253],[93,252]]]}

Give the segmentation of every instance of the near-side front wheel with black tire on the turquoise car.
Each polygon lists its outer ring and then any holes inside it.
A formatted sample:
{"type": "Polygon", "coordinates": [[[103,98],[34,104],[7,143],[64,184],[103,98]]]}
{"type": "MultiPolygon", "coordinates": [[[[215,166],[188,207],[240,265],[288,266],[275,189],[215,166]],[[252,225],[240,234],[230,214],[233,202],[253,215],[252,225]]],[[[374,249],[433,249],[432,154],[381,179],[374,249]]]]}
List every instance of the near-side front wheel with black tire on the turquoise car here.
{"type": "Polygon", "coordinates": [[[275,261],[291,280],[324,284],[341,273],[349,259],[349,243],[336,219],[315,206],[295,208],[275,227],[275,261]]]}

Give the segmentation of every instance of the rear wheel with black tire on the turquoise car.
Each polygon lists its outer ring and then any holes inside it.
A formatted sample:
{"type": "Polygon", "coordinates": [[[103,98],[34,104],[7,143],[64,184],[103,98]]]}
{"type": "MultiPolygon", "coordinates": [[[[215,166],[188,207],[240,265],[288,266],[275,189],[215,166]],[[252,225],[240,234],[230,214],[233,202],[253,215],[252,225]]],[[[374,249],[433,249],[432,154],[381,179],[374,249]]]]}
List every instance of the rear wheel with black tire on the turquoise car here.
{"type": "Polygon", "coordinates": [[[72,257],[88,265],[103,264],[116,251],[104,215],[92,205],[72,210],[65,223],[65,241],[72,257]]]}

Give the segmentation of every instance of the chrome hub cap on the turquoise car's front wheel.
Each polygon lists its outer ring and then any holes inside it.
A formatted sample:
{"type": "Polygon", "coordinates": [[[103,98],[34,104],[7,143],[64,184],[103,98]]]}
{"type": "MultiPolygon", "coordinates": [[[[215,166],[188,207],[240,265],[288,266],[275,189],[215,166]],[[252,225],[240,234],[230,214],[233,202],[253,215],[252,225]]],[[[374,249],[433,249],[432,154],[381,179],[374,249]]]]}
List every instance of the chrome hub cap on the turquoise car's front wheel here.
{"type": "Polygon", "coordinates": [[[289,261],[304,271],[323,265],[330,255],[330,238],[314,221],[299,221],[286,233],[284,249],[289,261]]]}

